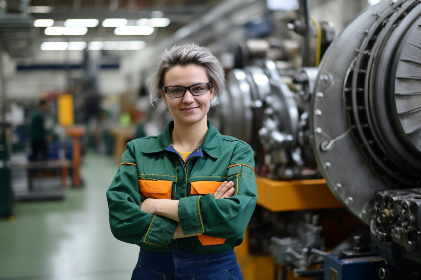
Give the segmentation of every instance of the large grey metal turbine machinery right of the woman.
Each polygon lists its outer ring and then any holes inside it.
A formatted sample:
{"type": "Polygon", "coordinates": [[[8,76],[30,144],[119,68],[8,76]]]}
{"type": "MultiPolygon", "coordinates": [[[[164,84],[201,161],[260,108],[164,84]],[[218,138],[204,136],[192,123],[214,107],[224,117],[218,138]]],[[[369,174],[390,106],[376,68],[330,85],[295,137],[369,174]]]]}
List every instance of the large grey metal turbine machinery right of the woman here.
{"type": "MultiPolygon", "coordinates": [[[[320,51],[320,27],[298,22],[320,51]]],[[[318,67],[298,71],[264,59],[232,70],[213,113],[222,133],[255,149],[258,176],[324,178],[362,224],[328,253],[317,218],[293,221],[297,236],[274,236],[271,254],[301,277],[419,279],[421,1],[368,7],[318,55],[318,67]]]]}

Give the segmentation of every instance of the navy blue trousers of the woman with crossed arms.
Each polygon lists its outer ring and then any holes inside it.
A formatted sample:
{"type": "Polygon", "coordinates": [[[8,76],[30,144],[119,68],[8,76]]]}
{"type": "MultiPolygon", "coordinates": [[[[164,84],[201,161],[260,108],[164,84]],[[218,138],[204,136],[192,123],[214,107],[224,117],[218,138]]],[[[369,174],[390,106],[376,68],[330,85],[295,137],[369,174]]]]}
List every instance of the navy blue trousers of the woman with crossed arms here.
{"type": "Polygon", "coordinates": [[[172,253],[140,249],[131,280],[243,280],[234,250],[220,254],[193,253],[193,248],[172,253]]]}

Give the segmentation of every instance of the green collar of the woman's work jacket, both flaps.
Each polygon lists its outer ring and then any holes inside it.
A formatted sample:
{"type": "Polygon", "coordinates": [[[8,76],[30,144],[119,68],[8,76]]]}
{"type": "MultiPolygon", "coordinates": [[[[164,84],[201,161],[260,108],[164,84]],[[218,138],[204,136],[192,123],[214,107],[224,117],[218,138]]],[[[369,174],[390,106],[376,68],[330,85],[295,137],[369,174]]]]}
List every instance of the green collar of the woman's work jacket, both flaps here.
{"type": "MultiPolygon", "coordinates": [[[[213,158],[218,158],[222,155],[222,138],[219,131],[212,125],[211,121],[207,121],[208,131],[202,143],[202,150],[213,158]]],[[[144,153],[157,153],[164,151],[171,145],[170,132],[174,129],[174,121],[170,121],[165,130],[157,136],[157,140],[144,153]]]]}

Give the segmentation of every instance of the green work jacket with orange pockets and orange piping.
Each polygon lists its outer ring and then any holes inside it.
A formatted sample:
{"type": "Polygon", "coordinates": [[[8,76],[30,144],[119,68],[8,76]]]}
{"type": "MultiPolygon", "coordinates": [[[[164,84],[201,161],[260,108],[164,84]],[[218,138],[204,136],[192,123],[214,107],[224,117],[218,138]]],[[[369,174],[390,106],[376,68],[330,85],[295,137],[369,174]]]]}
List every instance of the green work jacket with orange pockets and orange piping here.
{"type": "Polygon", "coordinates": [[[172,147],[170,122],[158,136],[127,144],[122,163],[107,190],[114,236],[154,252],[193,247],[195,253],[221,253],[241,244],[257,202],[253,150],[221,135],[208,121],[203,144],[187,160],[172,147]],[[215,199],[225,180],[234,182],[232,197],[215,199]],[[177,222],[140,210],[144,198],[179,200],[184,234],[172,239],[177,222]]]}

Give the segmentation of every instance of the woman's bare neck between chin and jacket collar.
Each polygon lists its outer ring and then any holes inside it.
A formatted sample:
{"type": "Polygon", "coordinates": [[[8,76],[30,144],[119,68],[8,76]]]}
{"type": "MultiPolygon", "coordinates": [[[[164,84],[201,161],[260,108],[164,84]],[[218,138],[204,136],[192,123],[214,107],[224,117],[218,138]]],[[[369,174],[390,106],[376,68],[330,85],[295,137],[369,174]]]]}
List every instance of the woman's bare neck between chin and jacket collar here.
{"type": "Polygon", "coordinates": [[[180,152],[191,152],[202,144],[207,131],[206,118],[193,125],[174,122],[174,130],[171,135],[172,144],[180,152]]]}

